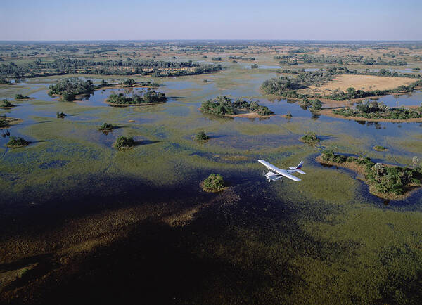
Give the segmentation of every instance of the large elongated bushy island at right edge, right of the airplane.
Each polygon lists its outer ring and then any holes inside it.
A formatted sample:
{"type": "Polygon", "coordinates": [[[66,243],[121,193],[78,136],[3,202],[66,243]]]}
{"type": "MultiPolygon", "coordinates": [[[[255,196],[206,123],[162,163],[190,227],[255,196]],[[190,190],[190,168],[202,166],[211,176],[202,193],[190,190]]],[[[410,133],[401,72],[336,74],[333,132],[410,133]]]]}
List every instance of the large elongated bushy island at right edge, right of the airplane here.
{"type": "MultiPolygon", "coordinates": [[[[347,157],[336,155],[333,150],[324,150],[321,153],[323,162],[333,162],[338,164],[348,163],[351,167],[362,170],[365,180],[370,189],[376,195],[403,195],[407,190],[422,185],[422,169],[416,167],[409,169],[381,163],[374,163],[369,157],[347,157]]],[[[347,164],[345,164],[347,167],[347,164]]],[[[349,166],[350,167],[350,166],[349,166]]]]}

